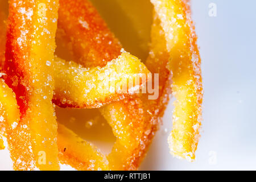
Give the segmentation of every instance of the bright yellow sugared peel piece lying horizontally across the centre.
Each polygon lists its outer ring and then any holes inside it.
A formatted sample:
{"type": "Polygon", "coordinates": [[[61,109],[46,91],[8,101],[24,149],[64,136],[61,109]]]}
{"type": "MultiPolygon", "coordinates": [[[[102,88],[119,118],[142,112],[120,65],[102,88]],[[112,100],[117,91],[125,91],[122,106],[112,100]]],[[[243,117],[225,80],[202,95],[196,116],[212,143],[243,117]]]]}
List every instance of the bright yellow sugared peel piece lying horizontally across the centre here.
{"type": "Polygon", "coordinates": [[[137,92],[147,81],[134,83],[136,78],[150,73],[137,57],[127,52],[102,68],[83,68],[73,61],[67,62],[58,57],[53,68],[55,103],[62,107],[80,108],[96,108],[122,100],[125,95],[137,92]],[[127,93],[122,92],[123,86],[126,86],[127,93]]]}

